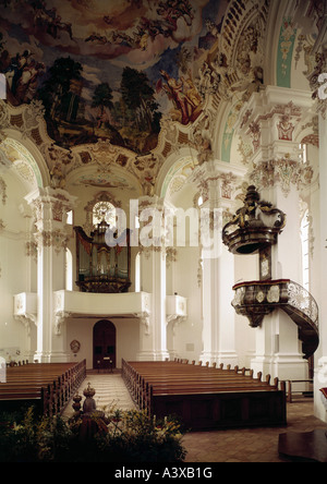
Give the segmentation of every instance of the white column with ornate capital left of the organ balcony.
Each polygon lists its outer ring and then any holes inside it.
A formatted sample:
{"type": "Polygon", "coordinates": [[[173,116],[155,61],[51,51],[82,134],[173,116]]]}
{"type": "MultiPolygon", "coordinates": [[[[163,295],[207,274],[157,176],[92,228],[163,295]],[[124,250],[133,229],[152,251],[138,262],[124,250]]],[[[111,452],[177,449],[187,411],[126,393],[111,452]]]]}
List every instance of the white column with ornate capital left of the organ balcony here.
{"type": "Polygon", "coordinates": [[[37,243],[37,351],[39,362],[65,362],[65,328],[55,317],[53,292],[65,288],[66,214],[75,197],[63,190],[37,189],[26,196],[34,211],[37,243]]]}

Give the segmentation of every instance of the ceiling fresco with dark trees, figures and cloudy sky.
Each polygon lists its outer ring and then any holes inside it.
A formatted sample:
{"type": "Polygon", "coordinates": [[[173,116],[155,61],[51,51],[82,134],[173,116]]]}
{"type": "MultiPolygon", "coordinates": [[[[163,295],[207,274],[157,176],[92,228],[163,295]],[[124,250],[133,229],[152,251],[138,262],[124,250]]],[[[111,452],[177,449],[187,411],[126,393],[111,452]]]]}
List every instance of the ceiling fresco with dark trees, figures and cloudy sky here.
{"type": "Polygon", "coordinates": [[[162,117],[203,112],[195,83],[228,0],[1,0],[0,72],[13,106],[39,99],[57,145],[156,148],[162,117]]]}

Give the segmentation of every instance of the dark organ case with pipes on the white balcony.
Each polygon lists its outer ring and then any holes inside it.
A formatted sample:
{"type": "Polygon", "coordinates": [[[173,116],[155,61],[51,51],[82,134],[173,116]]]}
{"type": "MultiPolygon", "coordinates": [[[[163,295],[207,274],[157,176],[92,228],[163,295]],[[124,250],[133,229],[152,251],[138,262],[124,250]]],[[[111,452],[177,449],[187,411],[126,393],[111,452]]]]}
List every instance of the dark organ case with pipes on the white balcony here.
{"type": "Polygon", "coordinates": [[[102,220],[88,237],[82,227],[76,232],[76,271],[81,292],[118,293],[131,287],[130,232],[118,245],[106,243],[110,226],[102,220]]]}

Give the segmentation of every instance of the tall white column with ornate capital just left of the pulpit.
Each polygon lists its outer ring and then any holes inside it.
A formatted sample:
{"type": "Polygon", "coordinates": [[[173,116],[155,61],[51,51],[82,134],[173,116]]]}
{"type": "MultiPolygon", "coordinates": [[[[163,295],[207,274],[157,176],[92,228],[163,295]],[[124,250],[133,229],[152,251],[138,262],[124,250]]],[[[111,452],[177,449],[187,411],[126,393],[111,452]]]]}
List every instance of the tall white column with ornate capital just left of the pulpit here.
{"type": "Polygon", "coordinates": [[[219,161],[205,162],[194,174],[202,189],[201,243],[203,246],[203,352],[210,364],[238,364],[235,313],[231,306],[234,258],[222,244],[225,210],[233,203],[240,180],[219,161]],[[208,240],[211,239],[211,247],[208,240]]]}

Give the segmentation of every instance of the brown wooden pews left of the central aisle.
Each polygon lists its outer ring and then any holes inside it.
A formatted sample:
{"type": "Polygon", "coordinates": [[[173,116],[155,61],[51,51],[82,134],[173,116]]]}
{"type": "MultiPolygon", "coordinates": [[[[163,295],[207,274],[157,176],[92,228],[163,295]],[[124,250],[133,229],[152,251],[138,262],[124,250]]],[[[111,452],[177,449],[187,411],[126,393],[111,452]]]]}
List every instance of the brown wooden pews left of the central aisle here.
{"type": "Polygon", "coordinates": [[[0,384],[0,409],[33,404],[45,415],[61,413],[86,378],[86,360],[80,363],[26,363],[7,368],[0,384]]]}

